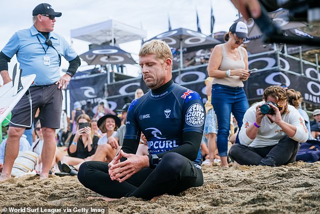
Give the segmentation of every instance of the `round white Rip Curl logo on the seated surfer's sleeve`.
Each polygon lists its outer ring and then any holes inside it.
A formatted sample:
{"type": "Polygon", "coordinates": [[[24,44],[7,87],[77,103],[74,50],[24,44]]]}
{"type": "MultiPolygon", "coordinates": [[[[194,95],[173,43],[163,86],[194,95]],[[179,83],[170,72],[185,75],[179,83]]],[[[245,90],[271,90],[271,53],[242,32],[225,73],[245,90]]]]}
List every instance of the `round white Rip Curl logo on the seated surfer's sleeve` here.
{"type": "Polygon", "coordinates": [[[204,124],[204,110],[198,103],[191,105],[186,114],[186,123],[189,126],[202,126],[204,124]]]}

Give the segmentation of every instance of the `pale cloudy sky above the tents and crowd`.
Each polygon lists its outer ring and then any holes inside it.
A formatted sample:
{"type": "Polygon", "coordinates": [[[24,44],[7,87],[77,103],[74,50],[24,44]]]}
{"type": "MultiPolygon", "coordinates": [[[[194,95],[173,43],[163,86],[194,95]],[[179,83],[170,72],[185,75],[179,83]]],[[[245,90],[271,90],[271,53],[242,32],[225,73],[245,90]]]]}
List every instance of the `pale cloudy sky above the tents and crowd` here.
{"type": "MultiPolygon", "coordinates": [[[[70,30],[90,24],[115,19],[128,25],[141,27],[147,31],[147,39],[168,30],[168,15],[172,28],[196,30],[196,10],[198,11],[202,33],[210,33],[210,6],[214,10],[216,24],[214,31],[227,31],[237,19],[237,10],[229,0],[9,0],[2,1],[2,20],[0,24],[0,48],[18,30],[32,25],[32,10],[40,3],[48,3],[62,17],[56,18],[55,32],[63,35],[69,42],[70,30]]],[[[120,45],[135,55],[139,43],[120,45]]],[[[88,43],[74,40],[72,46],[80,55],[88,50],[88,43]]],[[[13,59],[9,69],[13,68],[13,59]]],[[[68,63],[62,64],[63,68],[68,63]]]]}

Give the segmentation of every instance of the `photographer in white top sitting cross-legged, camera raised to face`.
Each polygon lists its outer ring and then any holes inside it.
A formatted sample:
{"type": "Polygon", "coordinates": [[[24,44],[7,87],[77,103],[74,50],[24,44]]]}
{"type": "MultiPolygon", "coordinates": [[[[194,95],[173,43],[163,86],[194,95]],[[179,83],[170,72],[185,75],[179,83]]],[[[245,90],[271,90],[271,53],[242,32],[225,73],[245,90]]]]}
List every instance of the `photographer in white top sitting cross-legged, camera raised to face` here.
{"type": "Polygon", "coordinates": [[[230,157],[240,165],[280,166],[295,162],[298,142],[308,139],[304,120],[287,102],[281,86],[263,91],[263,100],[245,113],[240,144],[230,148],[230,157]]]}

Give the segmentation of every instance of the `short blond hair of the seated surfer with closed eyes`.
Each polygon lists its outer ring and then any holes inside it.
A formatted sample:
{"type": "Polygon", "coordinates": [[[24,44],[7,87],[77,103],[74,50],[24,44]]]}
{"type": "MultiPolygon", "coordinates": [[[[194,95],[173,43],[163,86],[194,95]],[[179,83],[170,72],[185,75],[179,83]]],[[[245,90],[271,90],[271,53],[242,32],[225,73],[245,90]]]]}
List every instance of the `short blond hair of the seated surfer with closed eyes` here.
{"type": "Polygon", "coordinates": [[[139,57],[154,54],[158,60],[164,63],[168,58],[172,60],[172,52],[169,45],[161,40],[151,40],[143,44],[139,51],[139,57]]]}

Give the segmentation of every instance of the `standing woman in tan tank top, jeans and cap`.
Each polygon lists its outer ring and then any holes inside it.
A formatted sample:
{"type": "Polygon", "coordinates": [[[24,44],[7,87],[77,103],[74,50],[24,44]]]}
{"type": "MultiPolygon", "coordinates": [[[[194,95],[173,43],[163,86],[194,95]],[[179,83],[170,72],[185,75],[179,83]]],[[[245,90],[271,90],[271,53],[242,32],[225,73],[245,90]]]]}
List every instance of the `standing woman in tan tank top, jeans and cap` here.
{"type": "MultiPolygon", "coordinates": [[[[221,166],[228,167],[228,136],[230,130],[230,114],[233,113],[242,126],[244,113],[249,108],[243,82],[250,75],[248,72],[248,54],[240,45],[247,36],[245,23],[234,23],[225,35],[224,44],[216,45],[210,56],[207,67],[208,75],[214,77],[212,82],[212,100],[217,121],[217,147],[221,157],[221,166]]],[[[236,140],[236,143],[238,138],[236,140]]]]}

